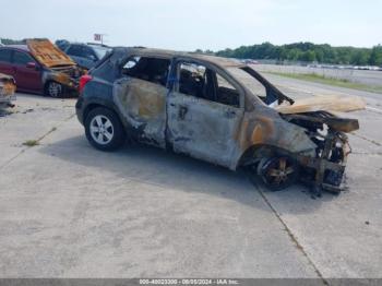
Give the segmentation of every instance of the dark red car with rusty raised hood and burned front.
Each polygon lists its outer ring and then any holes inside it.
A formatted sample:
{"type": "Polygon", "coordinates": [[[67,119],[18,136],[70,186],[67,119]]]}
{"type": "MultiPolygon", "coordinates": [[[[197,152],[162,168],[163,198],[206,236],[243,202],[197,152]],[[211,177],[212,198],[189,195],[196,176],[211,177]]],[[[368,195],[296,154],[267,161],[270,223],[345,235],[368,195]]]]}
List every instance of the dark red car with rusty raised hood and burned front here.
{"type": "Polygon", "coordinates": [[[76,94],[84,71],[49,40],[0,47],[0,72],[12,75],[17,91],[51,97],[76,94]]]}

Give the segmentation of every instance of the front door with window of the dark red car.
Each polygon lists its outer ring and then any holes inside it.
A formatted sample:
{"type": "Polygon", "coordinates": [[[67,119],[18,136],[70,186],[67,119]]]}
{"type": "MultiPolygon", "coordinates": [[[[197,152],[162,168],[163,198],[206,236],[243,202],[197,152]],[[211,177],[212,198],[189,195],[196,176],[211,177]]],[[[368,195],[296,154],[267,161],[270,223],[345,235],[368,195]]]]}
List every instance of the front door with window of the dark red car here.
{"type": "Polygon", "coordinates": [[[31,92],[43,90],[41,69],[31,55],[14,50],[12,63],[17,88],[31,92]]]}

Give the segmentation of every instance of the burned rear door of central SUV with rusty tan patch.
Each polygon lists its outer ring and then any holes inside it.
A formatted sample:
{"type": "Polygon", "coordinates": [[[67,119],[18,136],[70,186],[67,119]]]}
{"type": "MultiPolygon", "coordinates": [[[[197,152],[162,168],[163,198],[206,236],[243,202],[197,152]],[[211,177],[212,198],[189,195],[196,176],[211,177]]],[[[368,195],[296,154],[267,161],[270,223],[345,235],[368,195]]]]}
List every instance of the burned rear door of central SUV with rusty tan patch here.
{"type": "Polygon", "coordinates": [[[114,84],[114,102],[138,141],[165,148],[168,88],[150,76],[156,61],[162,59],[132,57],[123,67],[126,75],[114,84]]]}

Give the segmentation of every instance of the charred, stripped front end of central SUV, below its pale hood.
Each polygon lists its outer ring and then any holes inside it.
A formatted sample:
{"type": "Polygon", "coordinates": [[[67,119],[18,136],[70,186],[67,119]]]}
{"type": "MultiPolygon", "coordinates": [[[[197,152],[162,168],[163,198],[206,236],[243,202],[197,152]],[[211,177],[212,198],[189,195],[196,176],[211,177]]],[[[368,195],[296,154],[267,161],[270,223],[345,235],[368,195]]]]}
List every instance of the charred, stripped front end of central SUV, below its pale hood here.
{"type": "Polygon", "coordinates": [[[345,132],[359,129],[358,120],[337,118],[326,111],[283,115],[284,119],[303,127],[317,145],[315,156],[298,155],[303,167],[301,179],[312,183],[315,190],[339,192],[344,189],[347,156],[351,148],[345,132]]]}

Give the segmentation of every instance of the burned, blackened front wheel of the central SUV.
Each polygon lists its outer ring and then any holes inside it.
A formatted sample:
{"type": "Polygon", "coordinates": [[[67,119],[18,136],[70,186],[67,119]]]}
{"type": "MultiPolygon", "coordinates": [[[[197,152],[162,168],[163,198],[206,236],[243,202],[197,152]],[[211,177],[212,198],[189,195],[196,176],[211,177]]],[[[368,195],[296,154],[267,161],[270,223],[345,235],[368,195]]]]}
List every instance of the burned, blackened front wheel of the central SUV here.
{"type": "Polygon", "coordinates": [[[289,157],[273,157],[263,162],[260,168],[263,182],[273,191],[283,190],[296,182],[298,165],[289,157]]]}

